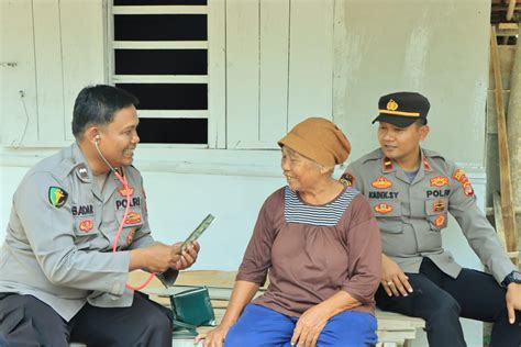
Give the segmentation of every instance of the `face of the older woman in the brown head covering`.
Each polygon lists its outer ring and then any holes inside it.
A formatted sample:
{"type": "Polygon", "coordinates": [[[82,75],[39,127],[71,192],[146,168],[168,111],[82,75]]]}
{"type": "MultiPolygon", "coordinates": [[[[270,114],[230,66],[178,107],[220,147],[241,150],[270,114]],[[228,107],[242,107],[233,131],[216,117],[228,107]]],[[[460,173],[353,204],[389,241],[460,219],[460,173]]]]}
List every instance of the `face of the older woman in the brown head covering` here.
{"type": "Polygon", "coordinates": [[[308,159],[287,146],[282,147],[280,167],[289,188],[293,191],[308,190],[323,175],[320,170],[320,164],[308,159]]]}

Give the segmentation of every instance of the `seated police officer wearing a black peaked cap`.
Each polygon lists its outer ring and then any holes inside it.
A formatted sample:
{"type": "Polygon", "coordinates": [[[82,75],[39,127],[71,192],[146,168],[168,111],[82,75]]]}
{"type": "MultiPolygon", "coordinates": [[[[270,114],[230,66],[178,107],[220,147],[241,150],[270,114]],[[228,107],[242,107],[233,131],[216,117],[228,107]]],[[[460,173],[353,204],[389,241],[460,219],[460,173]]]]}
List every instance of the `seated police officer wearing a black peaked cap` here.
{"type": "Polygon", "coordinates": [[[459,316],[494,322],[491,346],[521,346],[521,276],[476,204],[465,172],[421,148],[429,101],[414,92],[380,98],[380,148],[351,164],[341,180],[368,199],[380,227],[383,278],[377,305],[426,321],[430,346],[466,346],[459,316]],[[462,268],[443,248],[447,213],[491,275],[462,268]]]}

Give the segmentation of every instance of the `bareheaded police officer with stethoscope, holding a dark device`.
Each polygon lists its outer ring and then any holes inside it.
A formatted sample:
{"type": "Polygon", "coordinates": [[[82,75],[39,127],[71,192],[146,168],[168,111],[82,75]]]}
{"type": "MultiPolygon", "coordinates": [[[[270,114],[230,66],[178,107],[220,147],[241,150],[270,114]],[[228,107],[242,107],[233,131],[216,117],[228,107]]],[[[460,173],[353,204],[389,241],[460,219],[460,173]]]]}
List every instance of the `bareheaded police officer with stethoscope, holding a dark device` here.
{"type": "Polygon", "coordinates": [[[151,236],[137,100],[110,87],[76,99],[76,143],[32,168],[18,187],[0,251],[0,336],[8,346],[169,346],[171,312],[126,284],[137,269],[171,284],[199,246],[151,236]]]}

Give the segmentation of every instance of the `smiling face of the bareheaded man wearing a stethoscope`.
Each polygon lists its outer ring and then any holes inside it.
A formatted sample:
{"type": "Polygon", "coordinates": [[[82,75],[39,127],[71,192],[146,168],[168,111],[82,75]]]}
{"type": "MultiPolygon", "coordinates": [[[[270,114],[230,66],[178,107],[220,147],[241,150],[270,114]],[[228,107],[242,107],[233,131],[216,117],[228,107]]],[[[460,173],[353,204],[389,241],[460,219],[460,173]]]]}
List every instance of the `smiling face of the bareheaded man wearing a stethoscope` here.
{"type": "Polygon", "coordinates": [[[99,127],[99,148],[113,167],[129,166],[134,159],[137,136],[137,112],[133,105],[115,112],[111,123],[99,127]]]}

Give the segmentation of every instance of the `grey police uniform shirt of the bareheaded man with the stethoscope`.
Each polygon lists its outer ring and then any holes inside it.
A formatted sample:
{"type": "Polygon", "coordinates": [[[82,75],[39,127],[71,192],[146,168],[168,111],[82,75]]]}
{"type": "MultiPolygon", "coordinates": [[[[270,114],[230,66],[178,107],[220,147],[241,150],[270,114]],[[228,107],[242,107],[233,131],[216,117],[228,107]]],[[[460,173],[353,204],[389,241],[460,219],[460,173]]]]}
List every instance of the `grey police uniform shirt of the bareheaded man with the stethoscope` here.
{"type": "Polygon", "coordinates": [[[154,239],[142,177],[133,167],[124,175],[131,203],[122,221],[125,190],[112,172],[104,187],[95,184],[77,144],[32,168],[13,197],[0,251],[0,292],[33,295],[66,321],[87,301],[95,306],[130,306],[130,253],[112,253],[112,243],[120,223],[124,227],[118,250],[154,239]]]}

